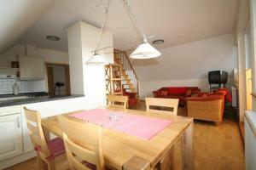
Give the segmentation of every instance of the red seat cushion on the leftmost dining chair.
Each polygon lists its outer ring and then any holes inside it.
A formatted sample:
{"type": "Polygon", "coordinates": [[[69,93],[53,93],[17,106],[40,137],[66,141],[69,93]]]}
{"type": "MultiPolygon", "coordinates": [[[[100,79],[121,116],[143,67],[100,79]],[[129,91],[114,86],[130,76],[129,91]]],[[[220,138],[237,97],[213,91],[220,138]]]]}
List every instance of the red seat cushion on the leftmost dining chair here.
{"type": "MultiPolygon", "coordinates": [[[[65,153],[65,146],[61,138],[50,139],[48,142],[48,148],[51,152],[51,155],[46,158],[48,161],[53,160],[55,157],[61,156],[65,153]]],[[[41,146],[35,147],[35,150],[40,151],[41,146]]]]}

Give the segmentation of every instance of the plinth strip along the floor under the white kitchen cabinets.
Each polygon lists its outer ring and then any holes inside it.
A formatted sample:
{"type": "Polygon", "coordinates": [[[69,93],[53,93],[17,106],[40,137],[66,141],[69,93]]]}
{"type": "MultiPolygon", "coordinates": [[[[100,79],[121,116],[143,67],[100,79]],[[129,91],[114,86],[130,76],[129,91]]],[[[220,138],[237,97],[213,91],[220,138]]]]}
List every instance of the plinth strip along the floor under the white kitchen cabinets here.
{"type": "Polygon", "coordinates": [[[0,161],[0,169],[5,169],[7,167],[12,167],[22,161],[26,161],[32,159],[33,157],[37,156],[37,152],[31,151],[26,154],[22,154],[20,156],[12,157],[8,160],[0,161]]]}

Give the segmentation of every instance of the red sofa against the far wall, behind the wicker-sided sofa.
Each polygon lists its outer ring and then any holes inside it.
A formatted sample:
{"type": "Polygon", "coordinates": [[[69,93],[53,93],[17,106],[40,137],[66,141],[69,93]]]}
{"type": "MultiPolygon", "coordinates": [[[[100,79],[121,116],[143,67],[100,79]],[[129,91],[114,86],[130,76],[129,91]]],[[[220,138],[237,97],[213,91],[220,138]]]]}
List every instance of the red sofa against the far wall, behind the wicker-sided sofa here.
{"type": "Polygon", "coordinates": [[[178,105],[185,105],[186,98],[200,93],[201,89],[197,87],[169,87],[160,88],[153,92],[155,98],[179,99],[178,105]]]}

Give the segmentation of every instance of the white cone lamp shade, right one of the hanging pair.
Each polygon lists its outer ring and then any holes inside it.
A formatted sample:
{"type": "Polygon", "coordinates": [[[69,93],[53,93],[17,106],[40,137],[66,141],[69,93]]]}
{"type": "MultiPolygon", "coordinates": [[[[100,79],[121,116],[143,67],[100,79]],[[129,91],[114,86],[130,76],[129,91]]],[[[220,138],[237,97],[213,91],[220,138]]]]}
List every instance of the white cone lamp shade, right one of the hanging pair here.
{"type": "Polygon", "coordinates": [[[132,59],[151,59],[159,57],[160,52],[148,42],[140,44],[130,55],[132,59]]]}

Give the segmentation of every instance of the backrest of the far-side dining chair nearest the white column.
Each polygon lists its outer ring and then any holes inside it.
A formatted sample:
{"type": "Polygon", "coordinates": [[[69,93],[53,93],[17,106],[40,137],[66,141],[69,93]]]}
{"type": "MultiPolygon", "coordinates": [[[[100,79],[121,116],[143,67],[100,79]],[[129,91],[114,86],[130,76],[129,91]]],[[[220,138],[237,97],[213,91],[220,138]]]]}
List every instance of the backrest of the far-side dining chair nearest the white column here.
{"type": "Polygon", "coordinates": [[[122,96],[122,95],[108,95],[108,106],[109,107],[119,107],[126,109],[127,108],[127,102],[128,102],[128,97],[127,96],[122,96]]]}

